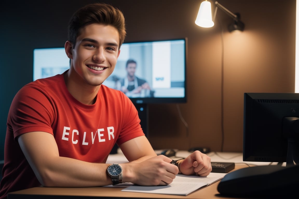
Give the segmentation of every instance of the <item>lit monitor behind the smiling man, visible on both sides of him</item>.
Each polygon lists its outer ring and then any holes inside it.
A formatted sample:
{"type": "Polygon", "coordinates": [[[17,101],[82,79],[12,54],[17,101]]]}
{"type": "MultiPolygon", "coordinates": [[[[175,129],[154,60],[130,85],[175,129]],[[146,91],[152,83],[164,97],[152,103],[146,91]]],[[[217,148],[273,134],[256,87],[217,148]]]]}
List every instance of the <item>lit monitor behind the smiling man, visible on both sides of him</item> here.
{"type": "MultiPolygon", "coordinates": [[[[121,90],[131,85],[147,82],[150,89],[126,92],[135,104],[141,119],[141,127],[148,134],[147,104],[185,103],[187,38],[125,42],[113,73],[103,82],[113,89],[121,90]],[[127,61],[136,63],[135,76],[138,82],[126,79],[127,61]]],[[[34,49],[33,80],[63,73],[69,68],[69,58],[63,47],[34,49]]],[[[131,71],[132,72],[132,71],[131,71]]]]}

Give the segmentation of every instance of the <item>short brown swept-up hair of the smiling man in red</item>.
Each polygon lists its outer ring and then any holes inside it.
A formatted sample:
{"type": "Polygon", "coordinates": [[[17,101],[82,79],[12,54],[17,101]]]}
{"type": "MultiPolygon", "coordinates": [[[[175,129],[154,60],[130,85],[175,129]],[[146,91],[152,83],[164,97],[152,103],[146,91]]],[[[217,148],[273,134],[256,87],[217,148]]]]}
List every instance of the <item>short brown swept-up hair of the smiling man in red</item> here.
{"type": "Polygon", "coordinates": [[[81,30],[89,24],[111,25],[118,30],[119,47],[126,37],[125,18],[123,13],[109,4],[95,3],[88,4],[77,10],[68,23],[68,41],[76,45],[76,39],[81,30]]]}

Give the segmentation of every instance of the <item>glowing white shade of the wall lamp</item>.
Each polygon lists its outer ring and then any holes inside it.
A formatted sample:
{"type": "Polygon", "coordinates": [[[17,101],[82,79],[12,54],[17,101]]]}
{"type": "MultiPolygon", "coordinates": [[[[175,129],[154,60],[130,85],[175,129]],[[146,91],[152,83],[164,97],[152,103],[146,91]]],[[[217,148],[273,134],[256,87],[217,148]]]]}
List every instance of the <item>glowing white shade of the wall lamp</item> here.
{"type": "Polygon", "coordinates": [[[211,3],[209,1],[203,1],[200,4],[195,24],[204,28],[214,26],[214,22],[212,21],[211,3]]]}

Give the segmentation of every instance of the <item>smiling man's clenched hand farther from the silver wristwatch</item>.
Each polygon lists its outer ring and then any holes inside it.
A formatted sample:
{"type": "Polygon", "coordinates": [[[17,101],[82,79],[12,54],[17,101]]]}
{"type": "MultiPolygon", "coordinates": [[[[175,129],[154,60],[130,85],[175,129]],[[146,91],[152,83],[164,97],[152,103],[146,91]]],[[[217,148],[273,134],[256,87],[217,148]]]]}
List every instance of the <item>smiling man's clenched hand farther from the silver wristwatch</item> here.
{"type": "Polygon", "coordinates": [[[200,151],[194,151],[179,162],[179,168],[184,175],[207,176],[212,171],[211,158],[200,151]]]}

